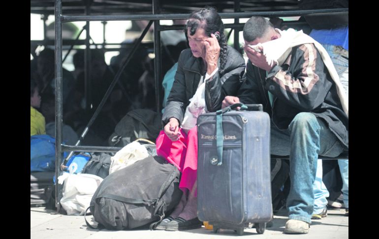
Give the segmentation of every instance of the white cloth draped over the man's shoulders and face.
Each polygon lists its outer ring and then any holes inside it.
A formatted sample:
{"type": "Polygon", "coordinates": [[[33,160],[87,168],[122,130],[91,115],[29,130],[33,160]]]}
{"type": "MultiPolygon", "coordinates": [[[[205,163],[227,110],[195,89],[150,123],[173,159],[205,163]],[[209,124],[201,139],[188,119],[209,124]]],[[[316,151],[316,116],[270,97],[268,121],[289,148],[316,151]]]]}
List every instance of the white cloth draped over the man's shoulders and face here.
{"type": "Polygon", "coordinates": [[[274,63],[281,66],[284,63],[285,59],[287,59],[292,47],[307,43],[315,44],[317,50],[321,55],[322,61],[324,62],[326,68],[329,70],[330,76],[336,83],[338,96],[340,98],[342,107],[348,117],[348,98],[340,81],[340,77],[338,76],[337,70],[334,67],[333,62],[330,59],[330,56],[326,52],[325,48],[311,36],[304,34],[303,31],[296,32],[292,28],[286,31],[281,31],[279,29],[275,30],[281,34],[281,37],[264,43],[258,43],[256,45],[263,47],[263,54],[266,56],[267,63],[271,67],[275,65],[274,63]]]}

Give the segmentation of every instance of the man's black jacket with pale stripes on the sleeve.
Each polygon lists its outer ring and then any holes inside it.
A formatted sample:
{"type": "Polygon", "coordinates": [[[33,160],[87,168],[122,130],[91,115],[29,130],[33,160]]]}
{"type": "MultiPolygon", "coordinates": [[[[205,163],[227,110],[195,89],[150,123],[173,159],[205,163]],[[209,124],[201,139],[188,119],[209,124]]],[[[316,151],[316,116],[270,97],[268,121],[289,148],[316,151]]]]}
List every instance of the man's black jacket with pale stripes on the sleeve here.
{"type": "Polygon", "coordinates": [[[288,129],[296,114],[311,112],[324,119],[348,149],[348,117],[336,84],[313,44],[293,47],[284,64],[272,68],[267,77],[265,70],[249,61],[238,97],[246,104],[263,104],[263,110],[281,130],[288,129]],[[272,107],[268,91],[273,95],[272,107]]]}

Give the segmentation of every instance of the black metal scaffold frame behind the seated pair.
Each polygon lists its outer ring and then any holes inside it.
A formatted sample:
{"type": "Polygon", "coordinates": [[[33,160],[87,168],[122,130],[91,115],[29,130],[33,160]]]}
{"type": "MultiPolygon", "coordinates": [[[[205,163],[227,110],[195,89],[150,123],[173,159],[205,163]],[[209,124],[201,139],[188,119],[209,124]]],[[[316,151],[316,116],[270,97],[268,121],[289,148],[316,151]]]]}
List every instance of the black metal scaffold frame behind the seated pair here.
{"type": "MultiPolygon", "coordinates": [[[[122,70],[125,68],[126,64],[129,62],[131,56],[134,54],[136,49],[138,48],[138,45],[141,43],[142,38],[147,33],[148,29],[154,22],[154,52],[155,52],[155,86],[156,86],[156,103],[157,103],[157,111],[160,110],[161,107],[161,99],[160,99],[160,92],[161,92],[161,49],[160,49],[160,31],[165,30],[173,30],[173,29],[180,29],[181,26],[160,26],[159,20],[174,20],[174,19],[186,19],[188,18],[189,14],[160,14],[160,0],[151,0],[152,1],[152,12],[153,14],[135,14],[135,15],[90,15],[91,12],[91,3],[92,1],[87,0],[85,5],[85,15],[63,15],[62,12],[62,0],[55,0],[55,122],[56,122],[56,171],[55,176],[58,178],[58,176],[61,174],[61,162],[63,158],[63,151],[86,151],[86,152],[117,152],[121,148],[118,147],[99,147],[99,146],[79,146],[80,140],[85,137],[85,135],[88,132],[89,127],[91,124],[95,121],[95,118],[99,111],[101,110],[101,107],[104,105],[105,101],[107,100],[108,96],[112,92],[113,87],[115,86],[118,78],[121,75],[122,70]],[[86,51],[85,51],[85,84],[86,84],[86,99],[90,96],[89,92],[87,92],[87,89],[91,89],[90,84],[91,82],[88,80],[88,73],[90,72],[90,51],[88,50],[90,48],[90,33],[89,33],[89,21],[120,21],[120,20],[150,20],[148,26],[143,31],[142,35],[136,41],[135,47],[133,51],[129,54],[126,61],[123,64],[123,67],[119,70],[119,72],[116,74],[115,78],[113,79],[111,85],[109,86],[107,92],[104,95],[104,98],[100,102],[98,108],[95,110],[95,113],[93,117],[91,118],[90,122],[88,123],[87,127],[85,128],[84,132],[82,133],[79,141],[74,145],[63,145],[62,144],[62,126],[63,126],[63,84],[62,84],[62,76],[63,76],[63,67],[62,67],[62,23],[63,22],[74,22],[74,21],[86,21],[86,51]]],[[[174,1],[173,1],[174,2],[174,1]]],[[[229,1],[230,2],[230,1],[229,1]]],[[[309,14],[344,14],[348,12],[348,8],[343,9],[321,9],[321,10],[287,10],[287,11],[254,11],[254,12],[240,12],[241,11],[241,4],[240,0],[234,0],[234,12],[227,12],[227,13],[220,13],[221,18],[234,18],[234,24],[225,24],[225,28],[232,28],[234,29],[234,46],[238,47],[239,42],[239,31],[242,30],[243,24],[239,23],[240,18],[250,18],[253,15],[259,15],[264,17],[284,17],[284,16],[304,16],[309,14]],[[236,31],[239,30],[239,31],[236,31]]],[[[212,4],[210,2],[198,2],[198,7],[204,6],[204,4],[212,4]],[[201,3],[201,5],[200,5],[201,3]]],[[[174,3],[172,3],[174,4],[174,3]]],[[[245,5],[244,5],[245,6],[245,5]]],[[[246,7],[246,6],[245,6],[246,7]]],[[[105,40],[104,40],[105,42],[105,40]]],[[[90,101],[87,101],[90,102],[90,101]]],[[[67,157],[68,158],[68,157],[67,157]]],[[[61,205],[60,205],[60,199],[62,198],[62,185],[59,185],[56,183],[56,206],[57,211],[61,212],[61,205]]]]}

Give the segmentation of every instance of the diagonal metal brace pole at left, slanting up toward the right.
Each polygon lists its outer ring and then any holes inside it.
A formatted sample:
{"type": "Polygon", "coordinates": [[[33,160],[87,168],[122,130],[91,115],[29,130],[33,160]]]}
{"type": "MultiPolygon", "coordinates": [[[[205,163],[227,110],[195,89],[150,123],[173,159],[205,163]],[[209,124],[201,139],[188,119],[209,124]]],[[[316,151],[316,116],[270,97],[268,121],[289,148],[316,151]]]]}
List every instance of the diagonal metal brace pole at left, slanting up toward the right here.
{"type": "MultiPolygon", "coordinates": [[[[138,38],[138,40],[135,42],[134,46],[133,46],[133,50],[129,53],[129,55],[127,56],[125,62],[123,63],[123,66],[119,69],[119,71],[117,72],[117,75],[115,76],[115,78],[113,79],[113,81],[111,82],[111,84],[109,85],[109,88],[107,90],[107,92],[105,92],[105,95],[103,97],[103,99],[101,100],[101,102],[99,103],[99,106],[97,106],[96,110],[95,110],[95,113],[94,115],[91,117],[90,121],[88,122],[86,128],[84,129],[82,135],[80,136],[80,138],[78,139],[78,141],[75,143],[75,146],[78,146],[80,144],[80,141],[83,140],[83,138],[87,135],[87,132],[89,130],[89,128],[91,127],[91,125],[94,123],[97,115],[100,113],[100,110],[102,109],[102,107],[104,106],[105,102],[107,101],[109,95],[111,94],[114,86],[116,85],[117,81],[119,80],[122,72],[124,71],[124,68],[126,67],[126,65],[129,63],[131,57],[134,55],[134,53],[137,51],[139,45],[141,44],[141,41],[142,39],[145,37],[147,31],[149,30],[150,26],[153,24],[153,21],[150,21],[149,24],[146,26],[145,30],[142,32],[141,36],[138,38]]],[[[86,149],[86,147],[88,146],[83,146],[83,150],[86,149]]],[[[66,147],[67,148],[67,147],[66,147]]],[[[68,147],[69,148],[69,147],[68,147]]],[[[112,151],[113,152],[113,151],[112,151]]],[[[70,154],[67,156],[67,158],[63,161],[62,165],[61,165],[61,168],[64,169],[65,166],[64,164],[68,161],[68,159],[72,156],[73,154],[73,151],[70,152],[70,154]]]]}

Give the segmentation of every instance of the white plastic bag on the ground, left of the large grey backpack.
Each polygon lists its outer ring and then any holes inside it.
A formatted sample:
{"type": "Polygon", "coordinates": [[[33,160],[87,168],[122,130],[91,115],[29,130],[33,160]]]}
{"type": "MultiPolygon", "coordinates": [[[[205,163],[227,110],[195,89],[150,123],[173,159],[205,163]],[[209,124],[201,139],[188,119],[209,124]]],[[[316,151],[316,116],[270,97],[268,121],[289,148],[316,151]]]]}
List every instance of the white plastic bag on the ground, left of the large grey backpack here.
{"type": "Polygon", "coordinates": [[[69,168],[70,173],[63,172],[63,175],[58,177],[59,184],[64,182],[60,203],[67,215],[84,215],[103,179],[94,174],[74,174],[75,170],[75,167],[69,168]]]}

